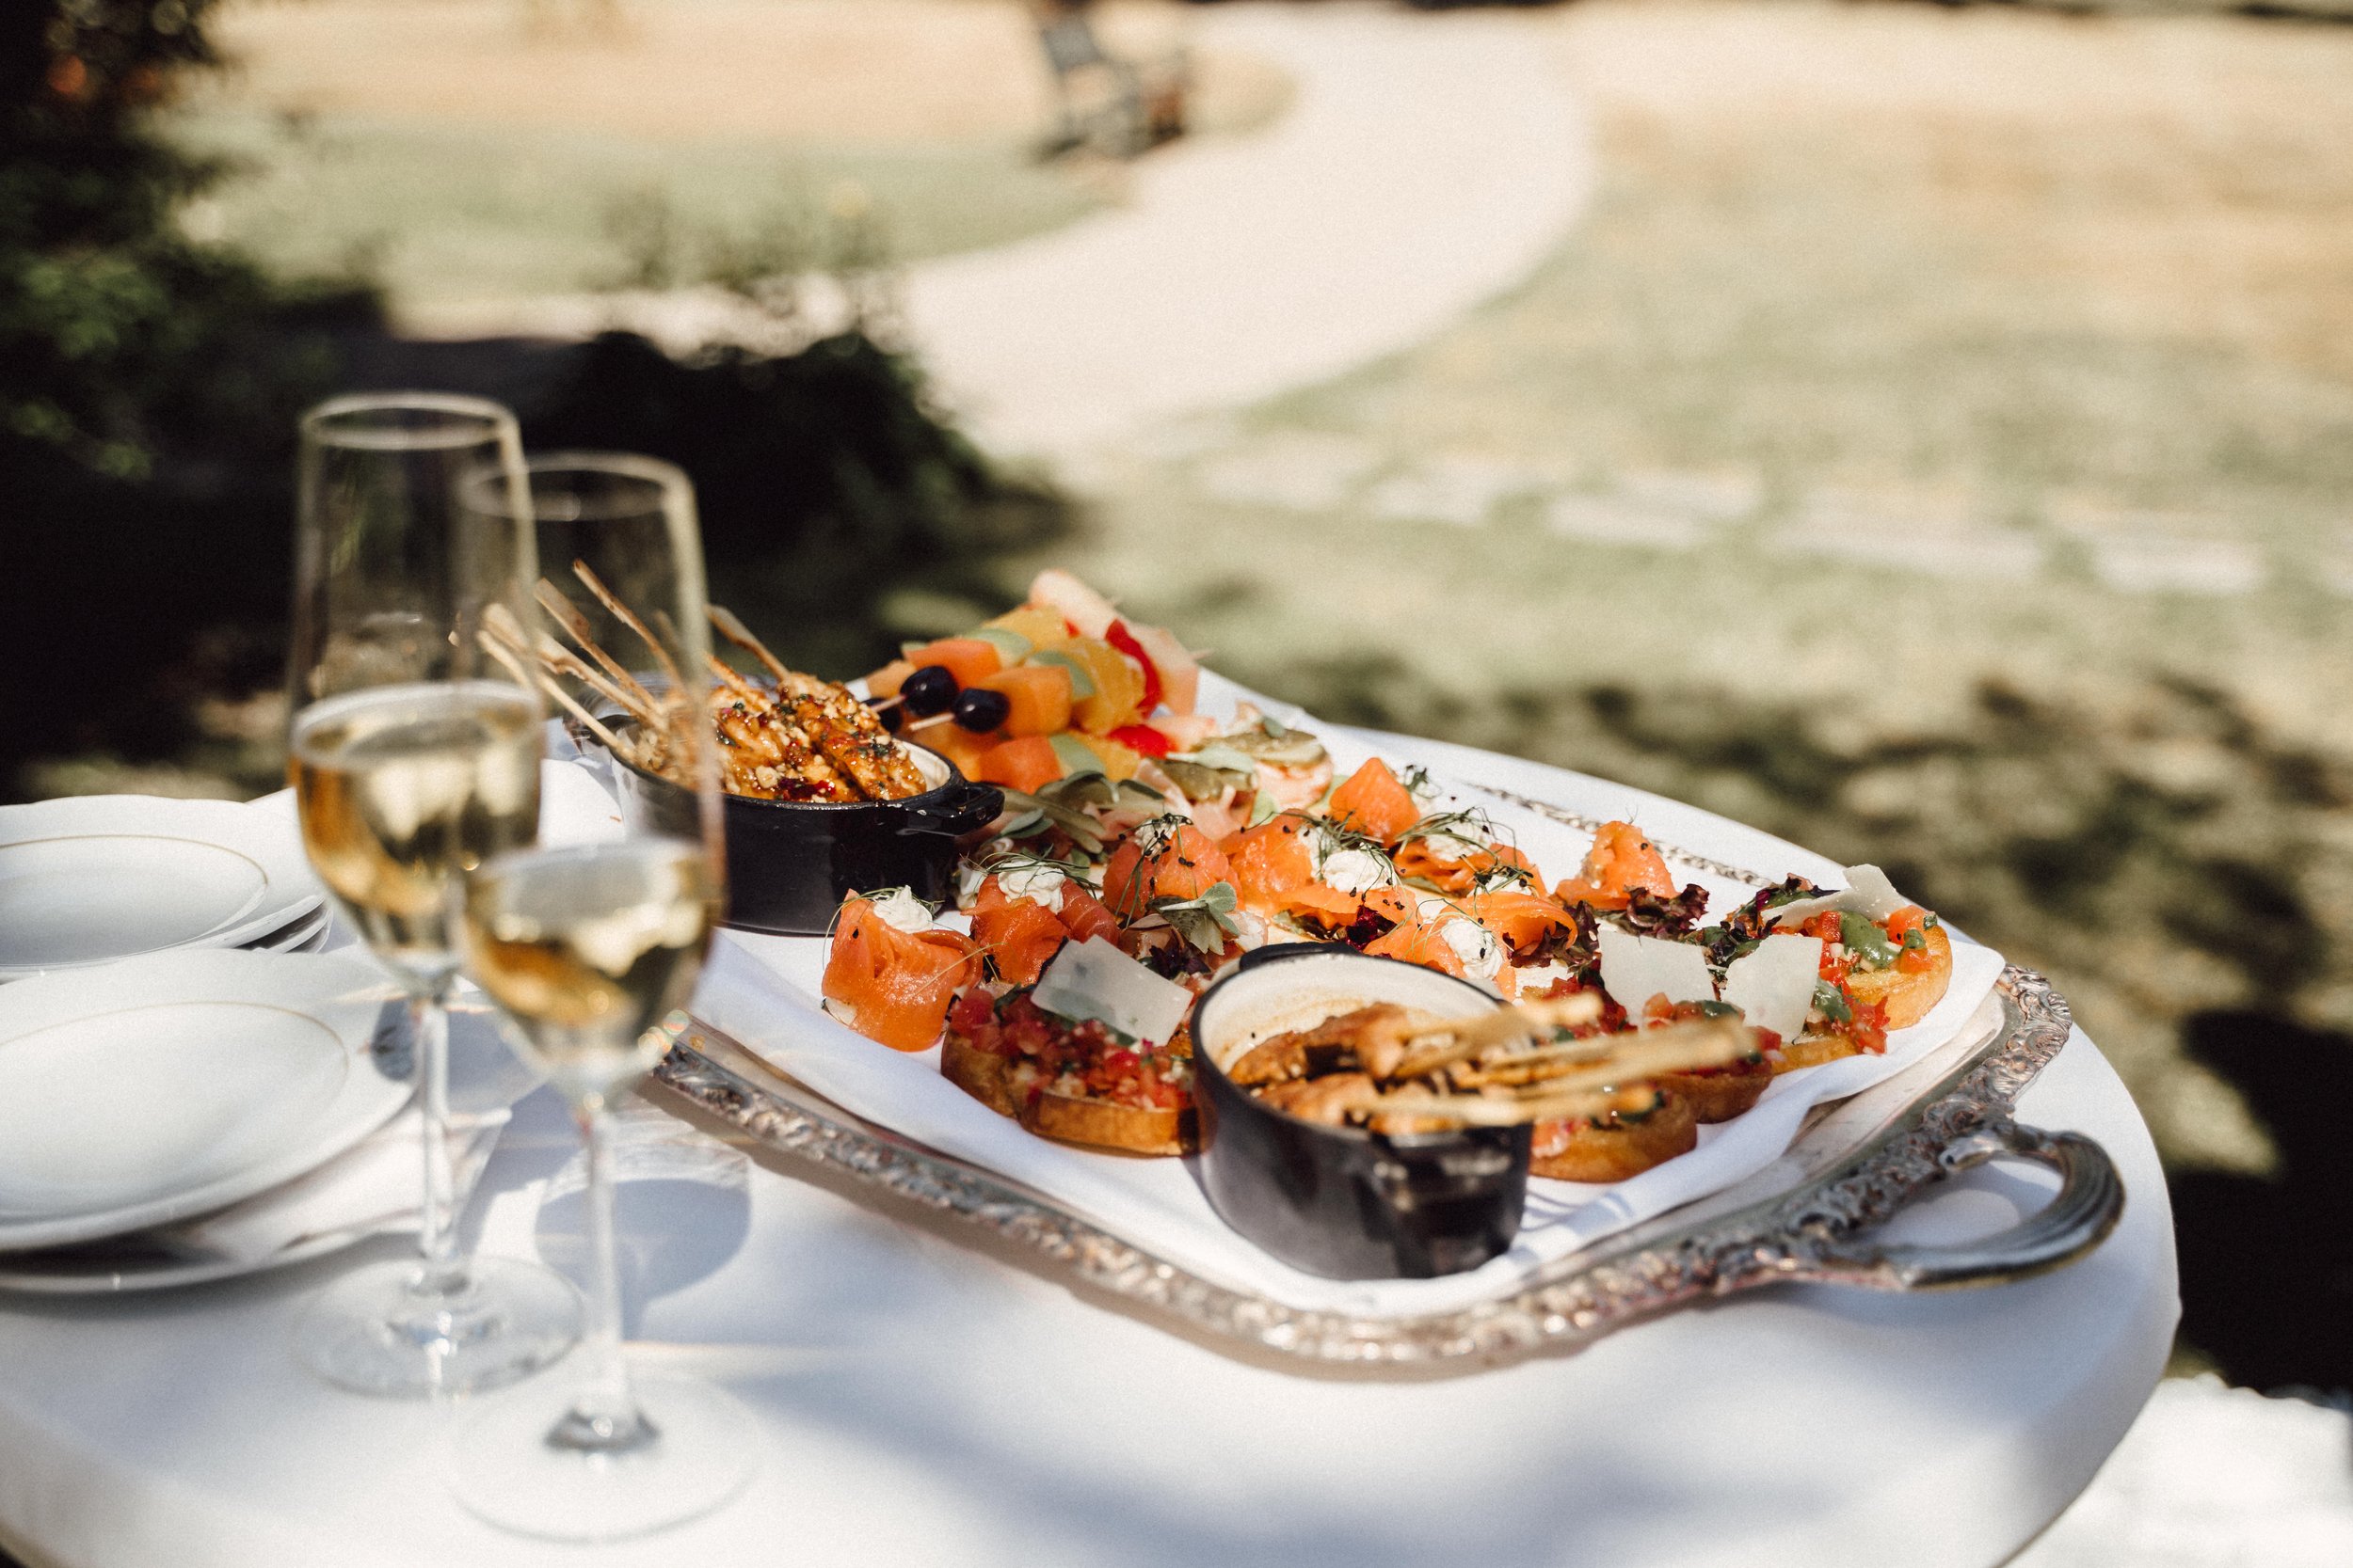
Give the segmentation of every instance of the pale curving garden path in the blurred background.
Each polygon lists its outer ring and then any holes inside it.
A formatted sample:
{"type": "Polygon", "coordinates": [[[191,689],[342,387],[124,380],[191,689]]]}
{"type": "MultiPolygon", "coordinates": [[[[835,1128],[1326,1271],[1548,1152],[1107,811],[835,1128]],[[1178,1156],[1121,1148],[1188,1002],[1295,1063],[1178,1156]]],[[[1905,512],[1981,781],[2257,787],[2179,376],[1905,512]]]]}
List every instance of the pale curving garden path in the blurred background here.
{"type": "Polygon", "coordinates": [[[908,277],[913,341],[988,444],[1071,454],[1417,343],[1525,277],[1591,190],[1522,19],[1231,5],[1198,40],[1287,71],[1292,110],[1155,153],[1122,209],[908,277]]]}

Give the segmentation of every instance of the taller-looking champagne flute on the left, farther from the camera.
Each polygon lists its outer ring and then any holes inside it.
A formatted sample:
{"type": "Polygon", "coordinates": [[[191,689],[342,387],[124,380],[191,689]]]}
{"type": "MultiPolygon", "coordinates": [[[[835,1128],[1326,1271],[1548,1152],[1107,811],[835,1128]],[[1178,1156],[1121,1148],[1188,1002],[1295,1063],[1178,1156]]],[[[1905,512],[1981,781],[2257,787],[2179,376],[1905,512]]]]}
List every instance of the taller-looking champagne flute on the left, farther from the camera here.
{"type": "Polygon", "coordinates": [[[461,503],[522,496],[494,402],[336,397],[301,421],[289,661],[292,773],[320,882],[407,992],[424,1117],[416,1262],[355,1269],[294,1328],[320,1378],[445,1394],[520,1378],[579,1338],[579,1293],[532,1262],[459,1255],[449,1164],[449,990],[459,872],[539,832],[539,693],[480,646],[529,614],[532,531],[461,503]]]}

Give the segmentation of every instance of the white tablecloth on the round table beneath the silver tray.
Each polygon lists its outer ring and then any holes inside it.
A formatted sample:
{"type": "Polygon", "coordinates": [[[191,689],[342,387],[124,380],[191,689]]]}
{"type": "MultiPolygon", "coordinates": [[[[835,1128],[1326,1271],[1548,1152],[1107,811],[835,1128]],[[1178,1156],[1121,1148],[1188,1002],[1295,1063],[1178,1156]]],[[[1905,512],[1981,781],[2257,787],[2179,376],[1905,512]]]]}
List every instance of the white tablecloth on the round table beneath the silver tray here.
{"type": "MultiPolygon", "coordinates": [[[[2120,1229],[2073,1269],[1953,1295],[1777,1288],[1409,1380],[1249,1363],[953,1222],[640,1121],[631,1335],[642,1363],[762,1415],[760,1474],[729,1509],[598,1549],[475,1523],[440,1479],[442,1410],[329,1392],[287,1352],[346,1255],[153,1298],[0,1298],[0,1544],[33,1568],[1986,1568],[2125,1434],[2177,1316],[2155,1152],[2087,1039],[2021,1117],[2092,1133],[2129,1185],[2120,1229]]],[[[553,1098],[527,1098],[487,1175],[487,1246],[579,1253],[576,1199],[534,1190],[569,1150],[553,1098]]],[[[1899,1225],[1991,1229],[2033,1190],[1974,1173],[1899,1225]]]]}

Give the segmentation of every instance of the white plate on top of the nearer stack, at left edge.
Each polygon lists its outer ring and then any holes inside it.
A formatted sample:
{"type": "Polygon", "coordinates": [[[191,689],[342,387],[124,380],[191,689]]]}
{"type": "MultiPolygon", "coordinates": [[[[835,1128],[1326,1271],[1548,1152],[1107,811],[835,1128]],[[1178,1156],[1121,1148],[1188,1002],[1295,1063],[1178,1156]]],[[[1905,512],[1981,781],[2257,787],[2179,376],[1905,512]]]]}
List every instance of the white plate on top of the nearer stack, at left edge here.
{"type": "Polygon", "coordinates": [[[344,954],[158,952],[0,990],[0,1251],[221,1208],[409,1098],[369,1053],[393,999],[344,954]]]}

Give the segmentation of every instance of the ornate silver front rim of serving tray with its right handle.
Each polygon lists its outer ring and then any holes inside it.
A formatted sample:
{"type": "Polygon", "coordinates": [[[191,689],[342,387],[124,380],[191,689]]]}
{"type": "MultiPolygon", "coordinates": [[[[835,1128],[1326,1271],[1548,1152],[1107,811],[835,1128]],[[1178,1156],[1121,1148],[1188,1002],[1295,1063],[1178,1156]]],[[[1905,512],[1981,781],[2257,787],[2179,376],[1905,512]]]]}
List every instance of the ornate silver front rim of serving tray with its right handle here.
{"type": "Polygon", "coordinates": [[[1313,1312],[1202,1279],[1045,1194],[845,1112],[699,1023],[654,1084],[755,1143],[967,1220],[1172,1326],[1318,1363],[1485,1363],[1777,1281],[1927,1291],[2005,1284],[2082,1258],[2125,1211],[2115,1166],[2089,1138],[2012,1121],[2068,1027],[2049,983],[2012,966],[1951,1044],[1817,1107],[1788,1152],[1746,1182],[1560,1258],[1494,1300],[1424,1316],[1313,1312]],[[1998,1154],[2059,1173],[2042,1211],[1967,1246],[1878,1246],[1864,1234],[1998,1154]]]}

